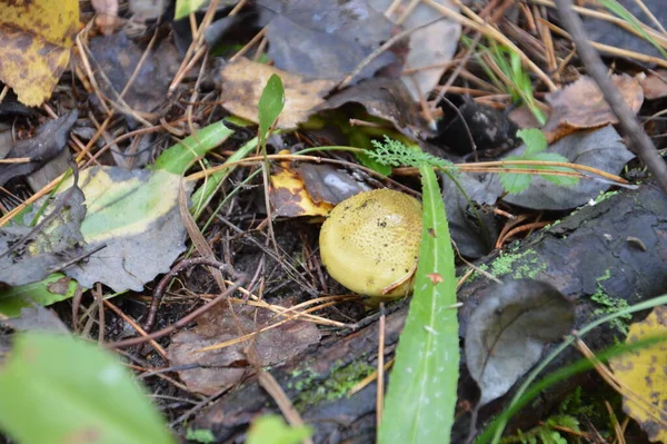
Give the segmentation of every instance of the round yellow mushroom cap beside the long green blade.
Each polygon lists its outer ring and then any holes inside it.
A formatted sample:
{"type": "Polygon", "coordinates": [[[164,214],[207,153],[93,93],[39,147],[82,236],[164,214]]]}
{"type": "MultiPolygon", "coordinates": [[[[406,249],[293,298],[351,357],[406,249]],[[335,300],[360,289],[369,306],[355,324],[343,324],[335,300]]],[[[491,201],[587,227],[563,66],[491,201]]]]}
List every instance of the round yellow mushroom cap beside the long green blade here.
{"type": "Polygon", "coordinates": [[[322,225],[319,244],[327,272],[345,287],[400,297],[412,288],[420,240],[421,204],[385,188],[338,204],[322,225]]]}

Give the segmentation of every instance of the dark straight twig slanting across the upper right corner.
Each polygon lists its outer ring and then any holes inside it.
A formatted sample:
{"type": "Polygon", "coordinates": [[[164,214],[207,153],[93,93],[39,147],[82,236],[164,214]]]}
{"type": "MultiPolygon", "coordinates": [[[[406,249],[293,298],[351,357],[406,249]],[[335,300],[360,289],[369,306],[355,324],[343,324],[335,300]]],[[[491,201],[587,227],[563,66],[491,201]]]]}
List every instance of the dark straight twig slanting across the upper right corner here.
{"type": "Polygon", "coordinates": [[[588,42],[588,36],[584,31],[581,19],[573,11],[571,0],[556,0],[558,13],[563,19],[565,27],[571,34],[573,41],[577,45],[577,52],[586,69],[598,83],[605,100],[609,103],[614,114],[618,117],[620,127],[630,138],[630,146],[634,148],[639,159],[648,167],[656,181],[667,193],[667,165],[660,157],[653,141],[641,129],[639,120],[623,100],[620,92],[614,87],[607,69],[600,59],[600,56],[588,42]]]}

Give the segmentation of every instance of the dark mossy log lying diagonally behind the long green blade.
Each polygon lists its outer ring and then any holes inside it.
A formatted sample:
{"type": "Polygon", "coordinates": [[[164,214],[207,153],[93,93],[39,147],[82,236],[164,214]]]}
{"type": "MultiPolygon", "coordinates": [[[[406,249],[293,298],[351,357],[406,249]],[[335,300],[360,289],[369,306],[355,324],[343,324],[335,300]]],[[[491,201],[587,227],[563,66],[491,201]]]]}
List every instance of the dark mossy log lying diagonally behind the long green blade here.
{"type": "MultiPolygon", "coordinates": [[[[576,302],[576,327],[580,327],[598,316],[599,310],[614,309],[593,300],[593,295],[611,305],[621,300],[633,305],[667,290],[667,197],[653,185],[609,196],[536,233],[515,250],[487,257],[480,264],[486,264],[502,279],[532,277],[555,285],[576,302]]],[[[488,279],[476,277],[460,288],[461,337],[470,313],[490,288],[489,284],[488,279]]],[[[385,362],[394,355],[407,309],[406,302],[389,308],[385,362]]],[[[270,371],[305,422],[315,427],[316,443],[375,441],[375,383],[347,396],[349,388],[376,365],[378,323],[375,319],[370,318],[355,332],[341,332],[311,348],[306,356],[270,371]]],[[[589,347],[599,351],[613,345],[616,338],[623,338],[623,333],[605,326],[585,339],[589,347]]],[[[569,349],[547,372],[579,357],[576,351],[569,349]]],[[[458,405],[462,408],[475,404],[477,393],[467,376],[464,356],[461,361],[458,405]]],[[[534,424],[580,383],[570,379],[542,393],[537,405],[519,413],[520,422],[516,424],[534,424]]],[[[501,410],[508,398],[506,395],[482,408],[479,424],[501,410]]],[[[192,425],[211,430],[225,442],[243,434],[257,415],[266,413],[279,412],[270,396],[251,378],[220,397],[192,425]]],[[[457,414],[454,443],[465,438],[469,416],[462,410],[457,414]]]]}

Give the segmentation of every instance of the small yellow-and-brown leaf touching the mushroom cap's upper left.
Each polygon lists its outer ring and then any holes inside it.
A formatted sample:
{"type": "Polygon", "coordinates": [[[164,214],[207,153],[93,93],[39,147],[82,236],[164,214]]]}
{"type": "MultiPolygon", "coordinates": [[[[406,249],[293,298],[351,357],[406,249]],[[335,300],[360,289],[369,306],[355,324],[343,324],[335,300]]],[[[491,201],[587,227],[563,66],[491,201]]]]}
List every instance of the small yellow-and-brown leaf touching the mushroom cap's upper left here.
{"type": "Polygon", "coordinates": [[[299,172],[291,169],[291,162],[280,162],[270,177],[269,200],[273,215],[281,217],[326,216],[334,205],[315,201],[306,190],[299,172]]]}

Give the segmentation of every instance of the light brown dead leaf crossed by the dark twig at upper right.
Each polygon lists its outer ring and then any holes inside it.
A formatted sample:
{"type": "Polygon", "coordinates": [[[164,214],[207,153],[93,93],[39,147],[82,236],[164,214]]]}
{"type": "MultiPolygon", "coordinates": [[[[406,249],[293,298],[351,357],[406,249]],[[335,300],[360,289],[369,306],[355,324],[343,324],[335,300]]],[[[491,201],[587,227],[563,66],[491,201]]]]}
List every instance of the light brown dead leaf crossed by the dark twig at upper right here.
{"type": "MultiPolygon", "coordinates": [[[[644,92],[639,81],[626,73],[611,76],[611,82],[623,95],[626,105],[639,111],[644,92]]],[[[546,97],[551,110],[542,131],[549,142],[560,139],[579,129],[604,127],[617,124],[616,115],[605,100],[595,80],[581,76],[579,80],[546,97]]]]}

